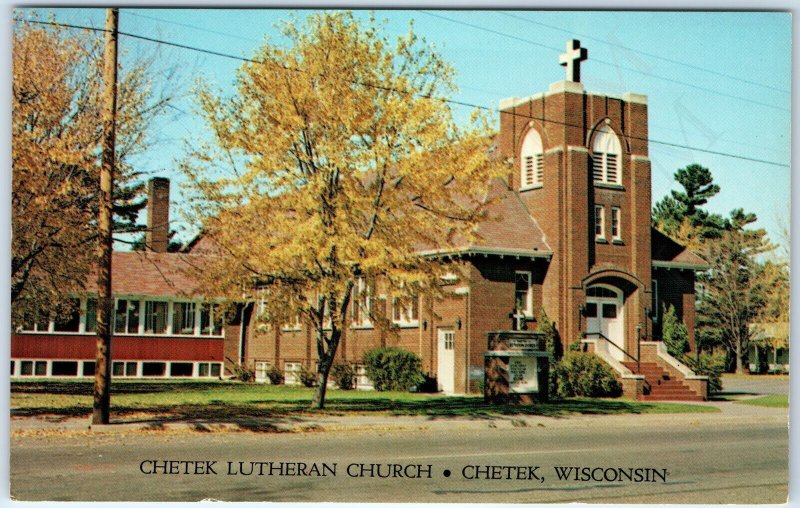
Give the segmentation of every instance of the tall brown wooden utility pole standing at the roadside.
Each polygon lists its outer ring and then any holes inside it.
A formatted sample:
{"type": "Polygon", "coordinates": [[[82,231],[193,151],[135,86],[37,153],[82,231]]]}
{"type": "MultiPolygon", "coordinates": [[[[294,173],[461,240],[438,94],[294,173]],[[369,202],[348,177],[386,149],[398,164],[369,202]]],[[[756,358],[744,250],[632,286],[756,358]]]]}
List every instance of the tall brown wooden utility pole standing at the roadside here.
{"type": "Polygon", "coordinates": [[[117,120],[117,37],[119,9],[106,9],[106,42],[103,56],[103,161],[100,167],[100,206],[97,227],[97,362],[94,371],[93,424],[107,424],[111,407],[111,332],[114,299],[111,295],[113,249],[112,199],[114,192],[117,120]]]}

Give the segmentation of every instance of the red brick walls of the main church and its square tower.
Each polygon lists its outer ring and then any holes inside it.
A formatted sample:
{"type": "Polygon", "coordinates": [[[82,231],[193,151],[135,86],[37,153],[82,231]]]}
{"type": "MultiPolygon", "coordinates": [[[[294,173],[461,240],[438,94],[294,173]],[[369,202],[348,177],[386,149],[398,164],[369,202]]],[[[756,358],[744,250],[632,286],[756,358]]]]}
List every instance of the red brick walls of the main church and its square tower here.
{"type": "MultiPolygon", "coordinates": [[[[647,136],[647,100],[639,95],[596,95],[584,92],[579,83],[560,82],[547,93],[503,101],[497,138],[498,152],[509,165],[503,185],[522,206],[515,208],[514,199],[496,191],[504,196],[496,207],[503,220],[489,226],[491,232],[482,234],[481,245],[464,246],[457,253],[468,267],[465,280],[457,282],[460,294],[436,301],[423,298],[419,325],[413,328],[346,327],[339,358],[358,363],[371,348],[398,346],[417,353],[424,370],[435,377],[438,330],[452,330],[454,391],[475,391],[482,378],[487,333],[511,327],[517,271],[532,275],[528,329],[536,328],[544,310],[564,348],[586,331],[587,289],[596,284],[622,295],[624,348],[629,354],[636,354],[640,339],[660,337],[658,318],[664,304],[675,306],[694,347],[693,270],[702,267],[702,260],[651,230],[647,136]],[[592,147],[600,128],[610,128],[619,139],[618,182],[593,178],[592,147]],[[524,188],[520,150],[530,129],[542,140],[542,180],[524,188]],[[605,231],[598,238],[595,206],[602,206],[606,214],[616,210],[617,235],[612,235],[606,215],[605,231]]],[[[386,299],[376,301],[383,315],[389,315],[386,299]]],[[[314,367],[314,339],[307,327],[294,332],[251,328],[245,363],[262,360],[281,367],[302,362],[314,367]]]]}

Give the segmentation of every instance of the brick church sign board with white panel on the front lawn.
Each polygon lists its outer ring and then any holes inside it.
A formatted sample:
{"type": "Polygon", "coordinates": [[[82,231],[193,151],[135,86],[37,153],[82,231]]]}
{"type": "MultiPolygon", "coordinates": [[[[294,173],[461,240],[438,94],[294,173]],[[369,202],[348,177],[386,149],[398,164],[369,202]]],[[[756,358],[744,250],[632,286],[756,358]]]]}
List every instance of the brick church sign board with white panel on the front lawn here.
{"type": "Polygon", "coordinates": [[[547,400],[550,354],[541,332],[488,333],[484,354],[484,398],[494,403],[547,400]]]}

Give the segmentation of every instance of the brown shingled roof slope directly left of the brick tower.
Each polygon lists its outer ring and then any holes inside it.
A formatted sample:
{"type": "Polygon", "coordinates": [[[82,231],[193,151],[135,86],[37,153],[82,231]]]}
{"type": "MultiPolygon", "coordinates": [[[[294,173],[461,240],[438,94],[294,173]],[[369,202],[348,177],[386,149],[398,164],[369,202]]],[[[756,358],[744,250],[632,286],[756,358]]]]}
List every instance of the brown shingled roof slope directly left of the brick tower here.
{"type": "Polygon", "coordinates": [[[519,194],[499,178],[493,179],[484,199],[486,218],[475,230],[476,238],[456,239],[454,248],[420,248],[423,255],[474,253],[550,258],[552,249],[539,224],[528,212],[519,194]]]}

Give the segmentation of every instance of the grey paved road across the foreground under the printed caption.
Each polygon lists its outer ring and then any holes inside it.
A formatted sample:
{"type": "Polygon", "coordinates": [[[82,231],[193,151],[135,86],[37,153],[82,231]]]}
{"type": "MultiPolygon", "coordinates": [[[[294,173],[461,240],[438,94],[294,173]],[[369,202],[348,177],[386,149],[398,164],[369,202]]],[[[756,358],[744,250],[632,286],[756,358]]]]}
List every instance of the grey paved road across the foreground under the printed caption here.
{"type": "Polygon", "coordinates": [[[409,420],[385,431],[23,432],[12,435],[11,493],[20,500],[783,503],[786,411],[739,407],[736,414],[409,420]],[[210,473],[205,461],[216,461],[216,474],[140,471],[143,461],[165,460],[200,461],[192,473],[210,473]],[[288,463],[304,463],[306,473],[328,476],[229,475],[228,461],[233,472],[242,461],[245,471],[251,462],[272,462],[277,473],[282,462],[284,473],[299,470],[288,463]],[[358,464],[399,464],[388,471],[423,478],[349,476],[358,464]],[[559,480],[555,467],[592,468],[588,475],[601,481],[559,480]],[[620,475],[616,468],[650,468],[639,474],[656,481],[602,479],[620,475]],[[662,481],[654,471],[664,469],[662,481]],[[485,478],[495,474],[501,479],[485,478]],[[470,478],[476,475],[483,478],[470,478]]]}

